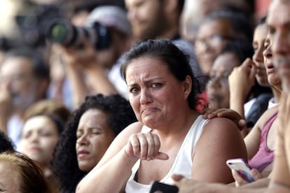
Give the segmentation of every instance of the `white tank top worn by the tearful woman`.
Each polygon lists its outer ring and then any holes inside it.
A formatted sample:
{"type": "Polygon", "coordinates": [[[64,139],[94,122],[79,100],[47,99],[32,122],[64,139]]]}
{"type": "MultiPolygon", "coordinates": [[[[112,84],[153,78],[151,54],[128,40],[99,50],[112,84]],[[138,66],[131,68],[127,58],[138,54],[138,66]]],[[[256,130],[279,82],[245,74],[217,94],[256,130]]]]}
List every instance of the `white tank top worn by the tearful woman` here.
{"type": "MultiPolygon", "coordinates": [[[[208,120],[204,120],[202,118],[202,115],[199,115],[195,122],[193,122],[193,125],[191,126],[191,129],[186,134],[186,137],[184,138],[184,142],[182,143],[179,152],[177,154],[177,157],[175,158],[172,167],[170,171],[166,174],[166,176],[160,180],[161,183],[166,183],[169,185],[173,184],[173,180],[171,178],[173,173],[181,174],[185,178],[191,178],[191,168],[193,166],[193,148],[195,147],[196,143],[198,142],[200,135],[202,134],[202,130],[205,127],[205,124],[208,122],[208,120]]],[[[149,132],[151,129],[149,127],[144,126],[141,129],[142,133],[149,132]]],[[[125,192],[127,193],[135,193],[135,192],[149,192],[151,189],[151,185],[144,185],[141,183],[137,183],[134,180],[134,176],[136,175],[137,170],[140,166],[140,159],[134,164],[132,167],[132,173],[127,181],[125,192]]]]}

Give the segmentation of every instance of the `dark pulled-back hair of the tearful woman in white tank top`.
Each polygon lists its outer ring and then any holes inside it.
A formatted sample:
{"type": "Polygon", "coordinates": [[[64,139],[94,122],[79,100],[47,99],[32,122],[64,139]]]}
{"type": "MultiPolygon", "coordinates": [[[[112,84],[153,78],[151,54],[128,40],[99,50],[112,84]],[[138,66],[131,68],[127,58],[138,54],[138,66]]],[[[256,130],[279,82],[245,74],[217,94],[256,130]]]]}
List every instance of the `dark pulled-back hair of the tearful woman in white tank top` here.
{"type": "Polygon", "coordinates": [[[140,57],[153,57],[160,59],[170,70],[172,75],[179,81],[184,81],[186,76],[190,76],[193,87],[188,96],[188,105],[191,109],[196,110],[196,106],[200,105],[200,85],[198,80],[194,77],[191,65],[189,63],[189,56],[185,52],[177,48],[170,40],[147,40],[135,44],[124,55],[124,62],[120,68],[122,78],[126,78],[126,69],[133,59],[140,57]]]}

